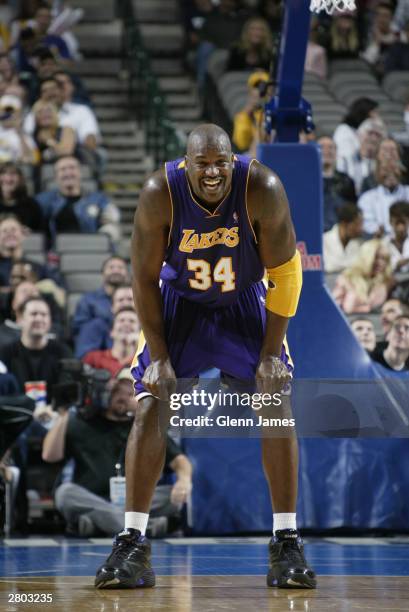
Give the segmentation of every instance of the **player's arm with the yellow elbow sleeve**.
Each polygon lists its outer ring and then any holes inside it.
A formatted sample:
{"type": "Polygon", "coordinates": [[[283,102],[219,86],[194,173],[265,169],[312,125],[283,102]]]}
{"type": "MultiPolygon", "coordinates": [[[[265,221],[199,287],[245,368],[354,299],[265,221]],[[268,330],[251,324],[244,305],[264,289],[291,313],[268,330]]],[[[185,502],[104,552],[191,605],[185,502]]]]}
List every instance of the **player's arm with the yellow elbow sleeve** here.
{"type": "MultiPolygon", "coordinates": [[[[260,258],[269,277],[267,323],[257,377],[275,378],[279,386],[288,375],[277,358],[281,355],[289,318],[295,314],[302,273],[284,187],[274,172],[259,163],[254,163],[251,169],[248,210],[260,258]]],[[[264,390],[267,386],[262,385],[264,390]]]]}

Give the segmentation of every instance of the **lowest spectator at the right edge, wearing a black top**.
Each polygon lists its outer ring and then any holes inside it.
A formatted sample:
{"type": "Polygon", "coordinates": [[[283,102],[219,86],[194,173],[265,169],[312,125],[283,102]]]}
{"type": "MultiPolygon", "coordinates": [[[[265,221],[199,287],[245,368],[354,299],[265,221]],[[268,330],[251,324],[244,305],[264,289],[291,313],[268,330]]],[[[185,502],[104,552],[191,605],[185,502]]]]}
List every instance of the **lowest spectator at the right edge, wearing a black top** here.
{"type": "MultiPolygon", "coordinates": [[[[399,315],[386,335],[387,346],[372,354],[372,359],[386,370],[409,371],[409,315],[399,315]]],[[[408,375],[409,376],[409,375],[408,375]]]]}

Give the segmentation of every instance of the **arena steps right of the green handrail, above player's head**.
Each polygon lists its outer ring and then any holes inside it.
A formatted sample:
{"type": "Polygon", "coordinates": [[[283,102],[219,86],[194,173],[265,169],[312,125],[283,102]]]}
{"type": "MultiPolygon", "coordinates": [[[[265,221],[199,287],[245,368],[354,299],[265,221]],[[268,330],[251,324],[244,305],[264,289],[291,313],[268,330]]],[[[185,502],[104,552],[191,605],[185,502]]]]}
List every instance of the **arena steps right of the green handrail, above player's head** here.
{"type": "Polygon", "coordinates": [[[195,80],[185,65],[179,2],[167,0],[166,11],[163,0],[133,0],[133,6],[170,118],[187,134],[200,122],[201,110],[195,80]]]}

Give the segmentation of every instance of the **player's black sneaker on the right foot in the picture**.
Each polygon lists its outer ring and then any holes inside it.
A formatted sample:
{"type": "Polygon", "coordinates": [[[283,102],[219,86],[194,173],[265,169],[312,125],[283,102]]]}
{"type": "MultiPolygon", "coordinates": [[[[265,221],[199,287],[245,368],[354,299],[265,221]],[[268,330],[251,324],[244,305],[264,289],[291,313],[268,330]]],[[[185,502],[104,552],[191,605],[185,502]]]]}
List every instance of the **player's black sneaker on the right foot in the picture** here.
{"type": "Polygon", "coordinates": [[[315,589],[315,573],[308,567],[304,547],[294,529],[276,531],[270,540],[267,586],[282,589],[315,589]]]}

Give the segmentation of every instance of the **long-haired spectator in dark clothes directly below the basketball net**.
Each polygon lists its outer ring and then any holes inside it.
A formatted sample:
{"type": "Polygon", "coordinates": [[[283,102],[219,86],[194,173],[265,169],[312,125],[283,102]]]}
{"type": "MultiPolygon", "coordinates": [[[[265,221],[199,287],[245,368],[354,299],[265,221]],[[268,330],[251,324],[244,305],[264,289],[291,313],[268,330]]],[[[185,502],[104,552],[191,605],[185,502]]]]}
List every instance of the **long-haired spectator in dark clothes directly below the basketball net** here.
{"type": "Polygon", "coordinates": [[[359,55],[359,35],[356,17],[352,13],[336,12],[332,17],[328,57],[354,59],[359,55]]]}

